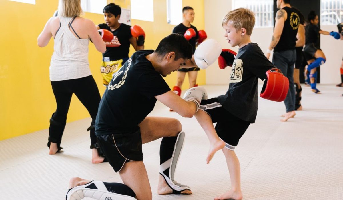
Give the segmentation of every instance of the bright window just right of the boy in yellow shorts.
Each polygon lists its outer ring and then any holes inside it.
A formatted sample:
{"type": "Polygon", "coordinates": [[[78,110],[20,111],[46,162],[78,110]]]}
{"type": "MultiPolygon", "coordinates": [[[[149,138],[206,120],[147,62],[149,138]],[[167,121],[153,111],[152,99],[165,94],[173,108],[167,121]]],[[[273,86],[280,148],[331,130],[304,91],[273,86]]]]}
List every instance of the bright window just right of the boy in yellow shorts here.
{"type": "Polygon", "coordinates": [[[153,0],[131,0],[131,18],[143,21],[154,21],[153,0]]]}

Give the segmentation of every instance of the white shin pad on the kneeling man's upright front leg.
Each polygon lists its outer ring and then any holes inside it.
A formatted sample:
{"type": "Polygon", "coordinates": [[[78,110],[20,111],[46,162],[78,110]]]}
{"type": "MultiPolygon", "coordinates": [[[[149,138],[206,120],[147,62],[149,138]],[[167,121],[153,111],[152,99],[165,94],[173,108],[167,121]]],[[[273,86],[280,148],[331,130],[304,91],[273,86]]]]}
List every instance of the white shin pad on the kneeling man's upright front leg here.
{"type": "Polygon", "coordinates": [[[177,162],[179,160],[179,157],[180,157],[180,154],[182,151],[182,147],[184,145],[184,141],[185,141],[185,132],[181,131],[181,132],[179,132],[179,134],[177,136],[175,146],[174,146],[173,155],[171,156],[171,158],[169,160],[167,160],[166,162],[162,163],[159,166],[159,174],[161,174],[164,177],[164,179],[166,180],[169,187],[173,190],[174,194],[180,193],[181,191],[184,191],[184,190],[190,190],[191,189],[189,186],[182,185],[182,184],[178,183],[176,180],[174,180],[176,165],[177,165],[177,162]],[[170,178],[163,173],[168,168],[169,168],[170,178]]]}

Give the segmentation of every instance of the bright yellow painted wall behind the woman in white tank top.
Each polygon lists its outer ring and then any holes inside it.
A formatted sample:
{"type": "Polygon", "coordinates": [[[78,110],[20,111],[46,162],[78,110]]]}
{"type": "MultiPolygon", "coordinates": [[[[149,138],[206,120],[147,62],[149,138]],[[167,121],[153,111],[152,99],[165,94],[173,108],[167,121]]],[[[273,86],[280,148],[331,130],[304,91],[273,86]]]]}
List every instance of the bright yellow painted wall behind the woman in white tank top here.
{"type": "MultiPolygon", "coordinates": [[[[108,0],[129,9],[129,0],[108,0]]],[[[37,46],[37,37],[47,20],[57,9],[57,0],[36,0],[26,4],[0,0],[0,140],[47,129],[49,119],[56,109],[49,80],[49,64],[54,42],[44,48],[37,46]]],[[[204,28],[203,0],[184,0],[196,12],[193,25],[204,28]]],[[[103,15],[85,13],[85,18],[95,24],[103,23],[103,15]]],[[[159,41],[171,33],[173,25],[167,24],[166,0],[154,0],[154,22],[132,20],[145,31],[145,49],[155,49],[159,41]]],[[[91,43],[90,67],[102,95],[102,77],[99,72],[101,53],[91,43]]],[[[131,47],[130,55],[134,52],[131,47]]],[[[176,81],[176,73],[166,78],[169,86],[176,81]]],[[[205,84],[205,71],[198,75],[198,83],[205,84]]],[[[182,89],[187,89],[188,80],[182,89]]],[[[87,110],[73,95],[67,122],[89,117],[87,110]]],[[[84,127],[85,129],[87,127],[84,127]]],[[[48,137],[48,136],[47,136],[48,137]]]]}

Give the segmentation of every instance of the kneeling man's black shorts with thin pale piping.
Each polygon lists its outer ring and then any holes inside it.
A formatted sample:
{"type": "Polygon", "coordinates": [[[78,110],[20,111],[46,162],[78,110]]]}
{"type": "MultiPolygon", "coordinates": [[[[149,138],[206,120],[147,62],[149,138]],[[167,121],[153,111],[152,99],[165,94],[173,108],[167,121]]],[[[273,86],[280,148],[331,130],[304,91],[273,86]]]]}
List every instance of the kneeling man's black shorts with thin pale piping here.
{"type": "Polygon", "coordinates": [[[129,161],[143,161],[141,130],[96,136],[99,148],[115,172],[129,161]]]}

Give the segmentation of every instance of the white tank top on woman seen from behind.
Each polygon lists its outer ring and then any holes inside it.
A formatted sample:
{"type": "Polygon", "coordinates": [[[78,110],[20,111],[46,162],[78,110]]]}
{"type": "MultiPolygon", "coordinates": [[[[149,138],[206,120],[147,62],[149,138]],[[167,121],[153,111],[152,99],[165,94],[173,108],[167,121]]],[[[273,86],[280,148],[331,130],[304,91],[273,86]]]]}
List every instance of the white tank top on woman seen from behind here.
{"type": "MultiPolygon", "coordinates": [[[[89,38],[79,39],[69,29],[73,17],[59,17],[61,27],[54,38],[54,53],[50,62],[50,81],[87,77],[91,74],[88,63],[89,38]]],[[[77,35],[77,33],[75,32],[77,35]]]]}

